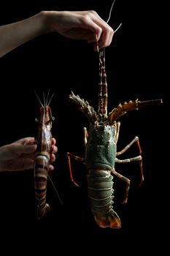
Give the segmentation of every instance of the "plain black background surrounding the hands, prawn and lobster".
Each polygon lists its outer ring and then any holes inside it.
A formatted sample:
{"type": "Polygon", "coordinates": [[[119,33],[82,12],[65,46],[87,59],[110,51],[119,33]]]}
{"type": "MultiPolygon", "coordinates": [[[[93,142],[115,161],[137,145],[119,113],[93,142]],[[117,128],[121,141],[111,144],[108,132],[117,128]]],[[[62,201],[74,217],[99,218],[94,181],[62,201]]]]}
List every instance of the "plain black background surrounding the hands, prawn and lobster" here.
{"type": "MultiPolygon", "coordinates": [[[[120,102],[163,98],[166,84],[163,31],[165,7],[156,1],[115,1],[109,25],[113,29],[122,23],[112,44],[106,49],[108,83],[108,111],[120,102]]],[[[107,20],[112,1],[5,1],[0,4],[1,25],[28,18],[40,10],[96,10],[107,20]],[[35,3],[36,2],[36,3],[35,3]]],[[[63,205],[51,184],[47,200],[51,212],[38,222],[35,216],[33,170],[0,173],[1,240],[20,249],[20,241],[28,248],[46,246],[58,251],[72,242],[69,250],[82,253],[93,248],[107,252],[138,253],[147,248],[163,249],[166,245],[166,175],[167,167],[163,138],[165,132],[165,104],[148,106],[120,118],[120,138],[117,149],[139,136],[142,146],[144,183],[137,188],[139,165],[116,165],[116,170],[131,178],[128,203],[120,204],[123,184],[115,178],[114,208],[122,221],[120,230],[102,229],[90,214],[85,166],[72,163],[74,178],[80,188],[69,180],[66,151],[84,156],[82,127],[88,120],[68,102],[72,91],[87,99],[97,109],[98,59],[93,45],[81,40],[46,34],[7,53],[1,65],[1,146],[26,136],[34,136],[39,97],[50,89],[55,96],[50,107],[55,116],[53,137],[58,153],[54,163],[53,183],[63,205]],[[19,235],[17,235],[19,233],[19,235]],[[29,236],[28,233],[30,233],[29,236]],[[163,242],[161,242],[163,238],[163,242]],[[62,243],[63,242],[63,243],[62,243]],[[79,251],[77,246],[82,244],[79,251]],[[138,249],[135,249],[137,246],[138,249]],[[148,247],[147,247],[148,246],[148,247]]],[[[133,157],[135,146],[125,157],[133,157]]],[[[7,248],[6,248],[7,249],[7,248]]],[[[63,251],[62,251],[63,252],[63,251]]]]}

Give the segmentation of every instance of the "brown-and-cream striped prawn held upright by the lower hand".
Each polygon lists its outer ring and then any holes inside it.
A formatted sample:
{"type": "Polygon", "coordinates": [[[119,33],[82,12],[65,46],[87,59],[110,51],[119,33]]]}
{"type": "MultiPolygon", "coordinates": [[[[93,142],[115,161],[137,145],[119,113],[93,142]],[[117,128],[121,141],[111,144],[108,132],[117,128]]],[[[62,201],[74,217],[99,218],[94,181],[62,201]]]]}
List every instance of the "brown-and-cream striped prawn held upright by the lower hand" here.
{"type": "Polygon", "coordinates": [[[34,161],[34,187],[36,196],[36,214],[38,219],[45,217],[50,206],[47,199],[47,176],[52,148],[52,113],[49,105],[39,108],[38,129],[36,135],[36,157],[34,161]]]}

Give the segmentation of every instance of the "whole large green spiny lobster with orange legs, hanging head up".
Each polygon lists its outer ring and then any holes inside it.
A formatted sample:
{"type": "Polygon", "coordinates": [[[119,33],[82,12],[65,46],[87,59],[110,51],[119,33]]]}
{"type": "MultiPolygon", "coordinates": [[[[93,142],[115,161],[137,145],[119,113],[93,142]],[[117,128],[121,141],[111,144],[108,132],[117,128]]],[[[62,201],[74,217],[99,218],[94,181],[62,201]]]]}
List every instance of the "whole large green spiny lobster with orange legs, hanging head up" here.
{"type": "Polygon", "coordinates": [[[77,105],[90,122],[89,131],[84,128],[85,157],[77,157],[74,154],[67,153],[70,178],[72,177],[72,168],[70,158],[85,163],[87,169],[88,196],[90,199],[91,211],[96,223],[100,227],[120,228],[121,221],[117,213],[113,210],[113,176],[117,176],[126,183],[126,192],[123,203],[128,200],[128,189],[130,180],[120,175],[115,170],[115,162],[133,162],[139,161],[140,165],[140,184],[143,181],[142,156],[139,145],[139,138],[135,137],[125,148],[117,152],[117,140],[120,131],[120,122],[117,121],[130,110],[138,110],[145,105],[162,103],[162,99],[152,99],[148,101],[125,102],[119,104],[107,115],[107,75],[105,71],[105,48],[99,50],[99,83],[98,83],[98,112],[89,105],[84,99],[77,95],[69,95],[69,100],[77,105]],[[117,159],[117,156],[123,154],[132,144],[136,143],[139,149],[139,155],[129,159],[117,159]],[[112,174],[111,174],[112,173],[112,174]]]}

